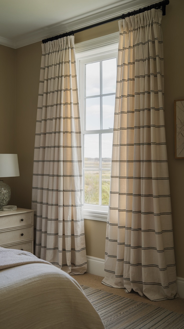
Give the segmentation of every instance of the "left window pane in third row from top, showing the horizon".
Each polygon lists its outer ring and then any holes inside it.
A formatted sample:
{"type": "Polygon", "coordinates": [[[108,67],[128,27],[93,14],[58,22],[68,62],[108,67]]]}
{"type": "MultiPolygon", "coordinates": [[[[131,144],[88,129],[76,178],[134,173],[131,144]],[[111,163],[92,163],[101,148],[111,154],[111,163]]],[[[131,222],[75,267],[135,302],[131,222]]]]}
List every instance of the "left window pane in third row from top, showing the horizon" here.
{"type": "Polygon", "coordinates": [[[84,167],[99,168],[99,135],[84,135],[84,167]]]}

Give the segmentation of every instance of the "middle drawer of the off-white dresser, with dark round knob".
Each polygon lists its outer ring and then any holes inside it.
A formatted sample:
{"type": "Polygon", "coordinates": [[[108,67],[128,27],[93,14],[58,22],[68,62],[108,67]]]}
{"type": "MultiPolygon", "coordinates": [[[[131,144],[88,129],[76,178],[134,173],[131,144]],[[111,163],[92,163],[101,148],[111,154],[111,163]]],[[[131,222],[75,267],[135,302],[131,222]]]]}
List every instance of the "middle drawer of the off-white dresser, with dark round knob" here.
{"type": "Polygon", "coordinates": [[[0,245],[6,245],[14,242],[31,240],[33,238],[33,227],[22,227],[15,230],[0,232],[0,245]]]}

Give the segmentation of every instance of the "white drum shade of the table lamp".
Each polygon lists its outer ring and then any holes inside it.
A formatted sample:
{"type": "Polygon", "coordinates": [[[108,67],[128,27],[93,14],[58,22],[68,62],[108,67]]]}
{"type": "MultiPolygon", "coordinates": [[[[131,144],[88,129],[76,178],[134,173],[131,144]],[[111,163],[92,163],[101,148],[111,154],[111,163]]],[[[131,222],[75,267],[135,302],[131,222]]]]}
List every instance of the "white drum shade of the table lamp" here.
{"type": "Polygon", "coordinates": [[[0,154],[0,177],[20,176],[17,154],[0,154]]]}

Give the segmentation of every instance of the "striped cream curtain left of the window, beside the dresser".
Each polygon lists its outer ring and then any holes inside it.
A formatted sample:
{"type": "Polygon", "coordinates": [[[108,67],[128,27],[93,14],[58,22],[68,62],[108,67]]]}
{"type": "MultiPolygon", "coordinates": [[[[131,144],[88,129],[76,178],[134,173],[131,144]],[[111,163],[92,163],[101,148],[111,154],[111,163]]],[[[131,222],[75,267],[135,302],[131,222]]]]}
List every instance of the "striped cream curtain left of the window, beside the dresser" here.
{"type": "Polygon", "coordinates": [[[87,269],[74,37],[42,44],[32,209],[37,257],[70,274],[87,269]]]}

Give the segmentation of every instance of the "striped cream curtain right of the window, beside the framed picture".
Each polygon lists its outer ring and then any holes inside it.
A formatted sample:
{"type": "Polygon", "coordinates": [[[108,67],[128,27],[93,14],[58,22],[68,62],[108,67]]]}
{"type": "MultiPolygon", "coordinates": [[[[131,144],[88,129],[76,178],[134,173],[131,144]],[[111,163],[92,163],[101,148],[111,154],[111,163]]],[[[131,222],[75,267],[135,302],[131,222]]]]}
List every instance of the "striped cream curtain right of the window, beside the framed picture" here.
{"type": "Polygon", "coordinates": [[[161,10],[119,21],[110,207],[103,284],[176,296],[164,126],[161,10]]]}

